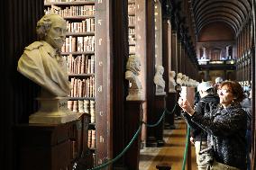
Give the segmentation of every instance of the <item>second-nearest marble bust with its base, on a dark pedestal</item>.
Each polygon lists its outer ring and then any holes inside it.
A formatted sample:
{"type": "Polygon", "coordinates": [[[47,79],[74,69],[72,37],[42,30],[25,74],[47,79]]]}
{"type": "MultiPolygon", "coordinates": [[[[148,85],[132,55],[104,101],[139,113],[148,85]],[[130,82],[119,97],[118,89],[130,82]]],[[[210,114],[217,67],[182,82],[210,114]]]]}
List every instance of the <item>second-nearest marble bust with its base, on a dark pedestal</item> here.
{"type": "Polygon", "coordinates": [[[129,80],[129,94],[126,97],[127,101],[142,100],[142,84],[139,80],[141,71],[140,58],[133,55],[128,58],[126,63],[125,79],[129,80]]]}

